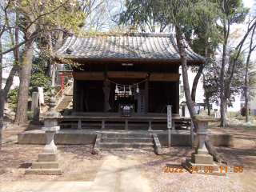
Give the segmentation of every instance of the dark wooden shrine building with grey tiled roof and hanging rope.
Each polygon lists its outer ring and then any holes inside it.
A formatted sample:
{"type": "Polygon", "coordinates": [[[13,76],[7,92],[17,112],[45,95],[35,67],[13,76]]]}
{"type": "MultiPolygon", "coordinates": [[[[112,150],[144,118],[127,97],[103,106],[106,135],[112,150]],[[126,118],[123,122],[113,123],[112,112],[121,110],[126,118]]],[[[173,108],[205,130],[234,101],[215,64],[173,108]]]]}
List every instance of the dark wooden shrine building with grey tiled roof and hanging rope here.
{"type": "MultiPolygon", "coordinates": [[[[183,44],[187,65],[201,65],[204,58],[183,44]]],[[[73,116],[166,119],[171,105],[172,114],[180,117],[181,58],[173,34],[70,35],[57,54],[78,63],[73,67],[73,116]]]]}

